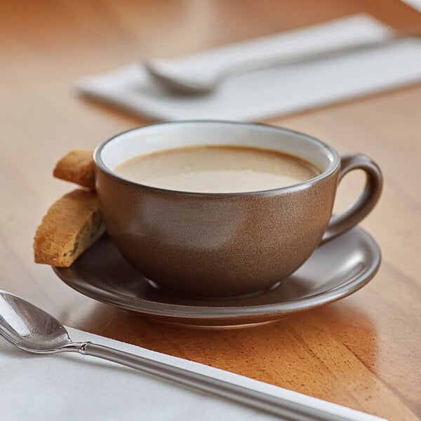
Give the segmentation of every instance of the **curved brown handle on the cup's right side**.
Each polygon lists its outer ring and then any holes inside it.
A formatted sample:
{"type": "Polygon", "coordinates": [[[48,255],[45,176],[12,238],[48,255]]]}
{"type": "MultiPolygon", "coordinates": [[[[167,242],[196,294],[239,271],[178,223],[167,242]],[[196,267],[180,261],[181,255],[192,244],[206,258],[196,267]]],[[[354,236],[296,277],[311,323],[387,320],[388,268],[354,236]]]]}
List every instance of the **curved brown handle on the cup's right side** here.
{"type": "Polygon", "coordinates": [[[363,154],[347,154],[341,156],[338,182],[345,174],[352,170],[366,172],[366,185],[359,199],[340,215],[333,215],[326,232],[323,234],[321,244],[334,239],[354,227],[370,213],[377,203],[382,192],[383,177],[380,168],[368,156],[363,154]]]}

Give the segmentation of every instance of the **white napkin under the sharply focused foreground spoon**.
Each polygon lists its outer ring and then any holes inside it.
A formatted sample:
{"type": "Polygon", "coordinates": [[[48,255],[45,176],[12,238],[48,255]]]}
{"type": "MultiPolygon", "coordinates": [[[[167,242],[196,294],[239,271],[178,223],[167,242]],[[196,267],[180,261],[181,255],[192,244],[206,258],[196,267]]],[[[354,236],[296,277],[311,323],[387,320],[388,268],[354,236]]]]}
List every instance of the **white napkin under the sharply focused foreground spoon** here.
{"type": "MultiPolygon", "coordinates": [[[[115,347],[260,392],[305,403],[307,406],[349,417],[349,420],[382,420],[224,370],[81,330],[67,330],[75,341],[89,340],[115,347]]],[[[29,354],[13,347],[1,337],[0,367],[2,420],[279,420],[274,415],[90,356],[29,354]]]]}

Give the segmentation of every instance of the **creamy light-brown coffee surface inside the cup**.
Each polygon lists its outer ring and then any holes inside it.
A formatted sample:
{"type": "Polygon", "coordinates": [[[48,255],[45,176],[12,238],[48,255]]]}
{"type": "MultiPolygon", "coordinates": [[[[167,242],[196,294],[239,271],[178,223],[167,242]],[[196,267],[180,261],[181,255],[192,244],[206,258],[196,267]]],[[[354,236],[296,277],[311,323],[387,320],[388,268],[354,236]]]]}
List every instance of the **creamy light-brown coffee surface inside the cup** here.
{"type": "Polygon", "coordinates": [[[310,163],[268,149],[197,146],[135,156],[114,170],[128,180],[199,193],[258,192],[319,175],[310,163]]]}

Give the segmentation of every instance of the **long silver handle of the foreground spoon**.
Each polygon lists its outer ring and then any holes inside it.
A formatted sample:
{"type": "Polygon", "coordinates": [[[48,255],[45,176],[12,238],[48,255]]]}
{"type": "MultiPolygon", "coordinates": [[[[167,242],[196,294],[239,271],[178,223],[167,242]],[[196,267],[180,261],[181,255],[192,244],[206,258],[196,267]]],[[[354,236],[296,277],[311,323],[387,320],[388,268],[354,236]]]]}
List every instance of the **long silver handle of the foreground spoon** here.
{"type": "Polygon", "coordinates": [[[235,385],[225,382],[214,377],[194,373],[184,368],[170,366],[160,361],[147,359],[143,356],[128,354],[117,349],[105,347],[103,345],[93,344],[92,342],[84,342],[79,352],[84,355],[97,356],[101,359],[113,361],[131,368],[136,368],[145,373],[163,377],[166,380],[178,382],[182,385],[192,387],[193,389],[208,392],[224,399],[243,403],[244,405],[258,408],[267,413],[279,415],[285,420],[332,420],[332,421],[349,421],[351,418],[342,415],[328,413],[319,408],[305,406],[302,403],[288,401],[280,397],[271,396],[262,392],[257,392],[247,387],[235,385]]]}

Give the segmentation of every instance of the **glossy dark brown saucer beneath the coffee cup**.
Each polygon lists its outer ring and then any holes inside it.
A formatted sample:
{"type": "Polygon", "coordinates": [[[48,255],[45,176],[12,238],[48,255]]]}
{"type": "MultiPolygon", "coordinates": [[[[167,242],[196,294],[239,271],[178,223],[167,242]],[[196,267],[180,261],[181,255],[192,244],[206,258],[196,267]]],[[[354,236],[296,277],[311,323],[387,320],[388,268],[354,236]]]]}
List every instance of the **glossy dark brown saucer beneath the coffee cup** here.
{"type": "Polygon", "coordinates": [[[107,234],[71,267],[53,270],[79,293],[109,305],[171,323],[227,327],[273,321],[340,300],[366,285],[379,265],[379,246],[356,227],[317,248],[278,286],[242,298],[196,298],[154,288],[123,260],[107,234]]]}

